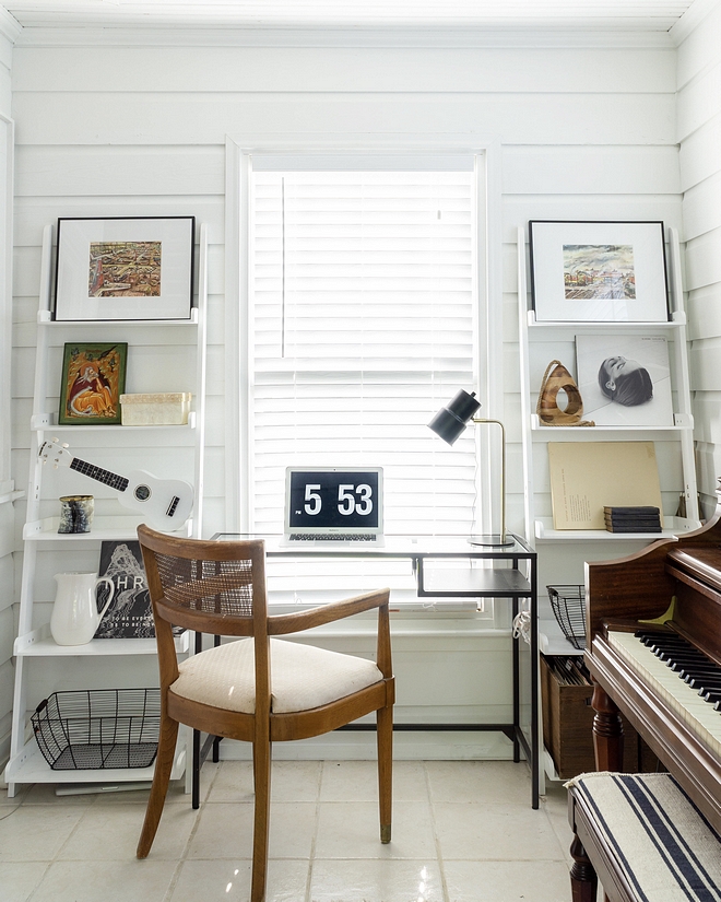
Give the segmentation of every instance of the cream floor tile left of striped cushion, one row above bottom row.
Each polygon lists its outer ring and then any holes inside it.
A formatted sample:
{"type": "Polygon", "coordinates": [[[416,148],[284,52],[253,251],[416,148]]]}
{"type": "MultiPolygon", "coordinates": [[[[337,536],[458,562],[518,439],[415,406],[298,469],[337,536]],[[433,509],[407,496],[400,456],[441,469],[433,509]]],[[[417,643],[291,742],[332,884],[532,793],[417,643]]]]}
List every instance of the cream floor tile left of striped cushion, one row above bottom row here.
{"type": "Polygon", "coordinates": [[[445,860],[564,860],[558,837],[542,809],[444,803],[435,805],[434,812],[445,860]]]}

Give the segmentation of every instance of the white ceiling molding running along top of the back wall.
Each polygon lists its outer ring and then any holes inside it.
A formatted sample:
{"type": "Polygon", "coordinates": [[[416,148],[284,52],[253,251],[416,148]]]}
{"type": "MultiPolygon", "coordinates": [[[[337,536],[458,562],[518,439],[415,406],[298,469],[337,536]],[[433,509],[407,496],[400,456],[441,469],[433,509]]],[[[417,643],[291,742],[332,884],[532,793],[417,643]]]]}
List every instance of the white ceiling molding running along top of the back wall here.
{"type": "MultiPolygon", "coordinates": [[[[0,8],[1,10],[2,8],[0,8]]],[[[14,21],[14,20],[13,20],[14,21]]],[[[17,47],[477,47],[673,48],[667,32],[606,28],[241,28],[86,26],[21,30],[17,47]]]]}

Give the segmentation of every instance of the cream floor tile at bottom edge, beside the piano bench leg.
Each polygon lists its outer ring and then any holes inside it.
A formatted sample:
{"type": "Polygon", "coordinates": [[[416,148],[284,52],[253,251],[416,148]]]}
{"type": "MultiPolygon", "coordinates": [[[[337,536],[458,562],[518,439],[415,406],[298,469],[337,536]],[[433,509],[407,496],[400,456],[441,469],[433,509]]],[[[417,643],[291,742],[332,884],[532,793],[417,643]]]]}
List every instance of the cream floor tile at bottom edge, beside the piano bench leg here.
{"type": "Polygon", "coordinates": [[[448,902],[570,902],[563,862],[448,862],[448,902]]]}

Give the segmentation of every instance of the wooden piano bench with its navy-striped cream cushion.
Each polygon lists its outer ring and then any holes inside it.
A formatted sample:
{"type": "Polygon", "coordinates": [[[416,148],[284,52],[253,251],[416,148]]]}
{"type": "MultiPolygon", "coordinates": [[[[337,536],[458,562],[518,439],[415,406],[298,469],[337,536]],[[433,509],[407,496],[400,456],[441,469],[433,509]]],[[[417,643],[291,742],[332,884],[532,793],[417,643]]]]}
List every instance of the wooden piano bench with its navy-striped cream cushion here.
{"type": "Polygon", "coordinates": [[[574,902],[721,900],[721,837],[671,774],[588,773],[566,784],[574,902]],[[598,879],[596,879],[598,877],[598,879]]]}

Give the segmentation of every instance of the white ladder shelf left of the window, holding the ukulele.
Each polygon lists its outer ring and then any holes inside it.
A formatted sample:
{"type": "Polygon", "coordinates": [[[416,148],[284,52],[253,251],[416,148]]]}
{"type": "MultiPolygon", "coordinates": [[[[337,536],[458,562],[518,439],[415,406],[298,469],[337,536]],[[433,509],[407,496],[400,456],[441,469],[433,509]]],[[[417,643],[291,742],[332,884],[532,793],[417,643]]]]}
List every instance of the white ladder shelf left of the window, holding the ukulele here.
{"type": "MultiPolygon", "coordinates": [[[[27,512],[23,527],[23,564],[15,655],[10,760],[4,778],[13,796],[24,783],[137,783],[152,778],[147,768],[52,770],[33,735],[31,715],[54,692],[76,689],[138,689],[158,684],[154,639],[94,639],[62,646],[52,640],[49,621],[57,572],[95,572],[104,540],[134,540],[142,516],[128,515],[111,488],[83,472],[43,466],[39,450],[57,437],[72,453],[114,473],[146,469],[158,477],[182,479],[194,490],[190,519],[179,534],[200,537],[203,507],[205,422],[205,311],[208,234],[199,230],[193,253],[198,285],[189,319],[56,321],[51,315],[54,229],[43,237],[40,301],[36,326],[33,412],[29,422],[27,512]],[[129,345],[128,390],[190,391],[194,398],[185,425],[58,425],[58,388],[62,348],[72,341],[122,341],[129,345]],[[149,362],[155,361],[155,365],[149,362]],[[133,365],[134,361],[134,365],[133,365]],[[132,371],[130,366],[133,365],[132,371]],[[90,532],[58,534],[59,496],[95,496],[90,532]]],[[[189,651],[189,635],[176,637],[189,651]]],[[[178,742],[173,777],[182,775],[187,736],[178,742]]]]}

